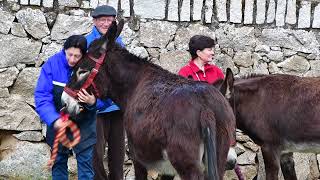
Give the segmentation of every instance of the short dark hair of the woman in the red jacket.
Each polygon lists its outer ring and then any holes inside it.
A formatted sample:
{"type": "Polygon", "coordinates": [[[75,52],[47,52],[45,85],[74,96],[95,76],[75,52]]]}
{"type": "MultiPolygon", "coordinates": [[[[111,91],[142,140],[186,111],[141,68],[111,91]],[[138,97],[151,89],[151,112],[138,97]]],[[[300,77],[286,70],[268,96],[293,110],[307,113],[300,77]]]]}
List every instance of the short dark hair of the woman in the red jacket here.
{"type": "Polygon", "coordinates": [[[195,35],[190,38],[189,41],[189,52],[192,59],[198,57],[197,51],[204,50],[205,48],[214,47],[215,42],[211,37],[203,36],[203,35],[195,35]]]}

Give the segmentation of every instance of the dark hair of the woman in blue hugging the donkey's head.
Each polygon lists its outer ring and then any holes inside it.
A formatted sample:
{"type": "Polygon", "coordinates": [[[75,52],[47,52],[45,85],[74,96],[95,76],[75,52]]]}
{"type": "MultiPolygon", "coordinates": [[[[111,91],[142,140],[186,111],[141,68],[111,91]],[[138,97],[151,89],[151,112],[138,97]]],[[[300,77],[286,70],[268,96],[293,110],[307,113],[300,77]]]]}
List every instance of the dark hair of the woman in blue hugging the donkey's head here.
{"type": "Polygon", "coordinates": [[[72,35],[68,37],[66,42],[63,44],[63,49],[67,50],[69,48],[79,48],[81,54],[85,54],[87,52],[87,40],[82,35],[72,35]]]}

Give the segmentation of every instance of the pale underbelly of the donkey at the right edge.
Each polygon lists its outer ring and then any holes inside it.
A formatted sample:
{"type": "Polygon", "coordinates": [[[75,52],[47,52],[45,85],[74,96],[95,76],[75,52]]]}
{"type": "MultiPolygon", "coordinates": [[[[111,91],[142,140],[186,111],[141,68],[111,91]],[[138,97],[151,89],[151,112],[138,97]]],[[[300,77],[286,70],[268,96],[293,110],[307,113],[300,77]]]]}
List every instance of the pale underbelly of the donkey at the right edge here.
{"type": "Polygon", "coordinates": [[[283,153],[287,152],[302,152],[302,153],[320,153],[320,143],[294,143],[286,142],[283,153]]]}

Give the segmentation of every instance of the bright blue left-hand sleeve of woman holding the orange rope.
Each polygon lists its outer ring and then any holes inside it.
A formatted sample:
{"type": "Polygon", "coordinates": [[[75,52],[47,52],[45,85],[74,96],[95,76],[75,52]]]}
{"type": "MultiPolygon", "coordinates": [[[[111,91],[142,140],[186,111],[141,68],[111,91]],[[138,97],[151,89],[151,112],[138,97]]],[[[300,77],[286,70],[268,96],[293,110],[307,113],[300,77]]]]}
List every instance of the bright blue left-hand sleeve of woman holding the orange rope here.
{"type": "Polygon", "coordinates": [[[34,92],[36,111],[47,125],[60,117],[53,101],[52,72],[49,63],[43,65],[34,92]]]}

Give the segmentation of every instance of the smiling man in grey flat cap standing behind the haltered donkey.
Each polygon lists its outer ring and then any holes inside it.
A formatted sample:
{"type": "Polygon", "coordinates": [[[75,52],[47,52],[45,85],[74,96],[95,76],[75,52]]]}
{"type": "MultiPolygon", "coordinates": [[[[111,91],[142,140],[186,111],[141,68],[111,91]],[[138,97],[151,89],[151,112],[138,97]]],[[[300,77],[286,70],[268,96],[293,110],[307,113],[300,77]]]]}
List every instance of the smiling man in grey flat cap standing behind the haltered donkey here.
{"type": "MultiPolygon", "coordinates": [[[[107,33],[112,22],[116,20],[116,15],[115,8],[109,5],[98,6],[94,9],[91,14],[94,27],[92,32],[86,36],[88,46],[92,41],[107,33]]],[[[116,43],[124,47],[120,36],[117,38],[116,43]]],[[[123,114],[111,99],[97,99],[97,109],[102,107],[106,108],[98,111],[97,115],[97,143],[93,154],[94,178],[96,180],[122,180],[124,161],[123,114]],[[109,175],[106,174],[103,166],[106,143],[108,143],[109,175]]]]}

